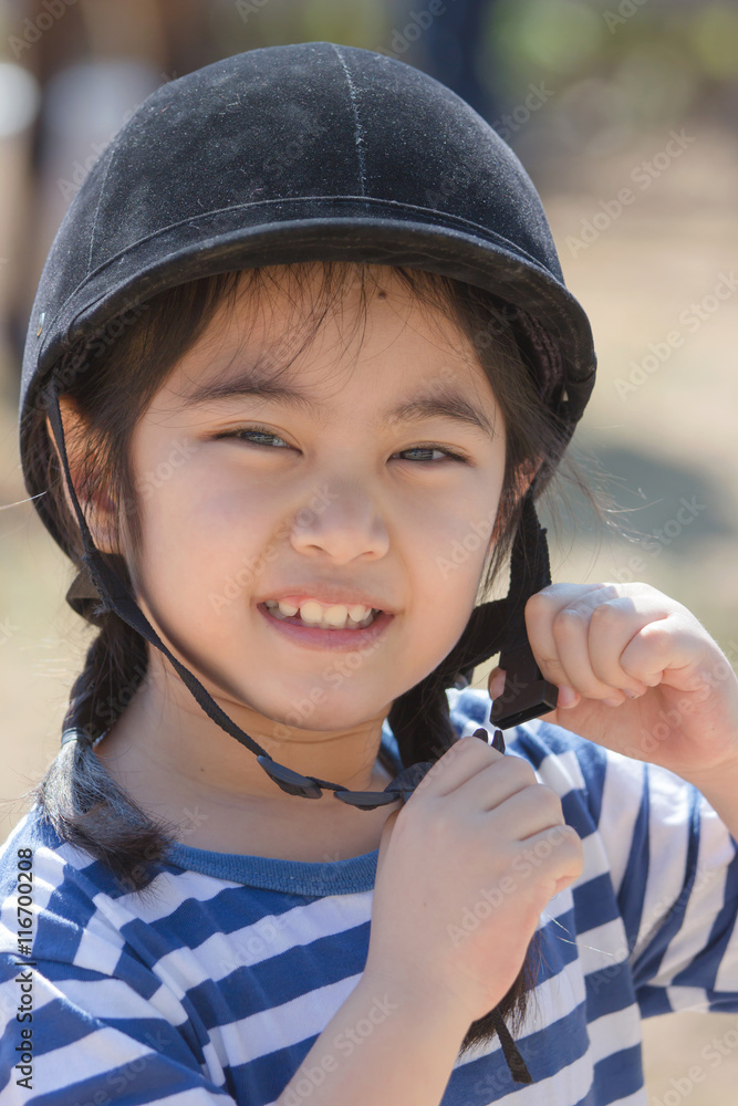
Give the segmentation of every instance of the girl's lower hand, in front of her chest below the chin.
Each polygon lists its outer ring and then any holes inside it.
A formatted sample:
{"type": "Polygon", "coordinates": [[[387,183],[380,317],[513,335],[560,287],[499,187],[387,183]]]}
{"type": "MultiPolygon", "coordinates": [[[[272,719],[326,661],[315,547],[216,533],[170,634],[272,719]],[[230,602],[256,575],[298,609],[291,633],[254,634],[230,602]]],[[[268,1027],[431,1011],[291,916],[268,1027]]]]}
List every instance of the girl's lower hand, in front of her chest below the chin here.
{"type": "Polygon", "coordinates": [[[464,738],[384,825],[364,974],[450,998],[476,1021],[505,998],[542,909],[582,869],[557,793],[520,757],[464,738]]]}

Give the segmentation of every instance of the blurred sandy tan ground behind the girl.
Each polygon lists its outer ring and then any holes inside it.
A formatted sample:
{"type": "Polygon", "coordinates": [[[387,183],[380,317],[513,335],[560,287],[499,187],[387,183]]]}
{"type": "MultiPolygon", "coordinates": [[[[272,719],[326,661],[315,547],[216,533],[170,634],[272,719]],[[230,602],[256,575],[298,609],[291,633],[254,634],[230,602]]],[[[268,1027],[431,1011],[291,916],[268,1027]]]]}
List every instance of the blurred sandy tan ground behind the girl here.
{"type": "MultiPolygon", "coordinates": [[[[575,180],[562,168],[542,189],[567,283],[590,314],[600,357],[575,444],[611,473],[611,493],[630,512],[623,520],[652,535],[646,552],[599,538],[575,507],[574,519],[551,542],[551,567],[554,581],[642,580],[677,597],[735,664],[738,295],[721,299],[717,310],[709,298],[734,274],[738,255],[738,149],[735,136],[706,126],[651,187],[633,188],[634,167],[667,137],[641,136],[606,164],[579,164],[575,180]],[[612,200],[628,182],[635,200],[609,225],[603,216],[593,221],[599,212],[606,216],[609,204],[615,210],[612,200]],[[579,247],[570,240],[583,242],[583,220],[595,234],[579,247]],[[703,301],[699,319],[690,305],[703,301]],[[683,500],[693,507],[687,522],[677,521],[683,500]]],[[[9,505],[25,498],[14,367],[0,366],[0,379],[1,841],[25,808],[23,792],[58,750],[66,696],[90,635],[64,602],[69,565],[31,504],[9,505]]],[[[477,686],[486,686],[490,668],[477,670],[477,686]]],[[[738,1013],[652,1019],[644,1032],[648,1106],[736,1102],[738,1013]],[[710,1042],[713,1050],[705,1051],[710,1042]]]]}

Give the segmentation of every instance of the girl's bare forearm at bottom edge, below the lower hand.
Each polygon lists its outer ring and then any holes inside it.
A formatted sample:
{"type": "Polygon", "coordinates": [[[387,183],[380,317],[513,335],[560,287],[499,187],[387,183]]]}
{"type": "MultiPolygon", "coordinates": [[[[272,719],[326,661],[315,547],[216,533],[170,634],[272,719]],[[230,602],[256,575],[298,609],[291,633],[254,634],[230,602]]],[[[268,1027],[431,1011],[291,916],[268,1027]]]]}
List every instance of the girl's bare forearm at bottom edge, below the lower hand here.
{"type": "Polygon", "coordinates": [[[276,1106],[438,1106],[469,1022],[435,994],[362,979],[276,1106]]]}

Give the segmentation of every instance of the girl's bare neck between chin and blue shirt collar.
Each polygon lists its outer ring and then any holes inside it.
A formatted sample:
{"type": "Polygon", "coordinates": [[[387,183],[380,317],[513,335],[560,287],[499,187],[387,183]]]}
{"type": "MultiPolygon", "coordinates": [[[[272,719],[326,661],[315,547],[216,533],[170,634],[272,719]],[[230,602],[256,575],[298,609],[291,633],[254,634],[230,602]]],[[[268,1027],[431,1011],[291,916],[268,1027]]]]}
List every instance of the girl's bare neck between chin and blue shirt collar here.
{"type": "MultiPolygon", "coordinates": [[[[224,710],[280,764],[352,791],[383,791],[393,779],[380,763],[382,718],[340,734],[291,730],[279,742],[268,727],[224,710]]],[[[283,728],[285,729],[285,728],[283,728]]],[[[106,771],[135,802],[196,848],[293,860],[346,859],[378,847],[397,804],[361,811],[324,791],[320,800],[283,792],[256,755],[205,714],[179,680],[145,681],[95,745],[106,771]],[[163,693],[166,690],[166,693],[163,693]]]]}

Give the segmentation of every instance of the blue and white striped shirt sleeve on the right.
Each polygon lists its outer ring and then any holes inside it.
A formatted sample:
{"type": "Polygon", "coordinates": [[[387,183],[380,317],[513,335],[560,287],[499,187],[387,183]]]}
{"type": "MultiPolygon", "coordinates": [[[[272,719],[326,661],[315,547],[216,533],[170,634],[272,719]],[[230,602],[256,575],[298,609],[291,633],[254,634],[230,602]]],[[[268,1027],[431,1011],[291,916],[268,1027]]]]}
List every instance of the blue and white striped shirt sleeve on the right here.
{"type": "Polygon", "coordinates": [[[606,751],[599,830],[644,1018],[738,1012],[738,843],[697,789],[606,751]]]}

